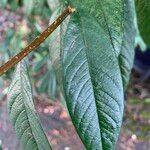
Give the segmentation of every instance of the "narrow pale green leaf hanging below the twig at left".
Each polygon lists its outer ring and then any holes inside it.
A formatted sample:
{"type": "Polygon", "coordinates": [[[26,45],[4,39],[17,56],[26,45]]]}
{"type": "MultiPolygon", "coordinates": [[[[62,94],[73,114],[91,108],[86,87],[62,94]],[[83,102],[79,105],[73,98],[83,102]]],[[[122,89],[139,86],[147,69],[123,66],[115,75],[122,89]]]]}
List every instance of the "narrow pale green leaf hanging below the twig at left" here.
{"type": "Polygon", "coordinates": [[[8,93],[12,124],[26,150],[50,150],[46,135],[34,108],[32,89],[24,61],[17,66],[8,93]]]}

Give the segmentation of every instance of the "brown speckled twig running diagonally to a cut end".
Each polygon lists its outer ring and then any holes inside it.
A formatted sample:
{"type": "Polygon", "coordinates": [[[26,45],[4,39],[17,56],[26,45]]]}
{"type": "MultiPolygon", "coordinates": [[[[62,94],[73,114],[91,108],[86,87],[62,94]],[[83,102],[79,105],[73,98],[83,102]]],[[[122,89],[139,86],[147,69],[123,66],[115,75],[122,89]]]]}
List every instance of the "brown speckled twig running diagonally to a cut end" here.
{"type": "Polygon", "coordinates": [[[66,8],[66,10],[40,36],[36,37],[34,41],[25,47],[20,53],[0,67],[0,76],[20,62],[41,43],[43,43],[43,41],[64,21],[64,19],[74,11],[75,8],[72,8],[71,6],[66,8]]]}

